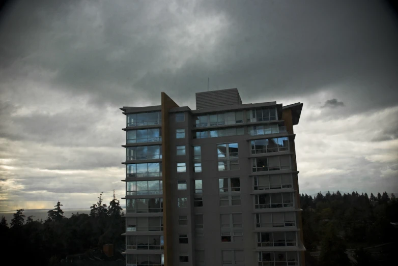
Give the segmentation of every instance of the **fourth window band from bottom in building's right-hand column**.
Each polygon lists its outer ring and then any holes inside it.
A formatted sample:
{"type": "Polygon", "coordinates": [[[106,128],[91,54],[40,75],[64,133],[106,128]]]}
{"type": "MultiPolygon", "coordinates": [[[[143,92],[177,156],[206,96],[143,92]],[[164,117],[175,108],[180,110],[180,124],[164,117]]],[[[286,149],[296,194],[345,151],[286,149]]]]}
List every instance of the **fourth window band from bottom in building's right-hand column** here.
{"type": "Polygon", "coordinates": [[[254,195],[254,208],[291,208],[294,207],[292,193],[271,193],[254,195]]]}

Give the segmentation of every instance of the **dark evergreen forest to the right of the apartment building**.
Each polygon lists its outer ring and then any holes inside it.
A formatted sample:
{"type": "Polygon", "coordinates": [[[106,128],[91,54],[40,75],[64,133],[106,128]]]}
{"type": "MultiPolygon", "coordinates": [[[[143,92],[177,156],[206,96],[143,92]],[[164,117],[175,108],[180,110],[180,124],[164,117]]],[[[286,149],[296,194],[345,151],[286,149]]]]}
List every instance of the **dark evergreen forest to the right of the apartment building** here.
{"type": "Polygon", "coordinates": [[[398,248],[394,194],[319,192],[314,198],[301,194],[300,203],[307,265],[376,266],[393,261],[392,250],[398,248]]]}

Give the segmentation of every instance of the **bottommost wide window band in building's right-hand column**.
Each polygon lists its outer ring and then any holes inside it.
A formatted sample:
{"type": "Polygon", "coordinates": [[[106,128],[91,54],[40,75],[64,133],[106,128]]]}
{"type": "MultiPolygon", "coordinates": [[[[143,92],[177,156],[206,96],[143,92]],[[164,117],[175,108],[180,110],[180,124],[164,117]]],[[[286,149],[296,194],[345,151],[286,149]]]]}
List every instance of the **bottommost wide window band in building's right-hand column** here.
{"type": "Polygon", "coordinates": [[[263,265],[299,265],[297,251],[259,251],[259,266],[263,265]]]}

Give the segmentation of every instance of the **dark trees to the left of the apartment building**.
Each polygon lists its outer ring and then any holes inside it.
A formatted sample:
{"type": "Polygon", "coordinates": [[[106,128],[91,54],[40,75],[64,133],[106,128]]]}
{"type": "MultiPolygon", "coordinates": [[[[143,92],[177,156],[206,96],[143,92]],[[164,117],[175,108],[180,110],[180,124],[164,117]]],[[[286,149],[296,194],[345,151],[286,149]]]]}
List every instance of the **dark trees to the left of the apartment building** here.
{"type": "Polygon", "coordinates": [[[23,209],[16,210],[10,226],[3,216],[0,222],[3,254],[10,259],[23,255],[24,262],[37,265],[53,265],[67,256],[89,259],[93,250],[113,244],[114,259],[123,259],[119,252],[125,248],[123,209],[115,192],[109,205],[103,203],[102,194],[90,207],[89,215],[76,213],[66,218],[58,201],[44,221],[34,220],[33,216],[26,218],[23,209]]]}

